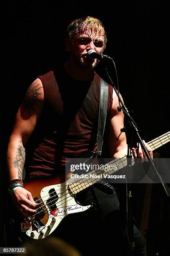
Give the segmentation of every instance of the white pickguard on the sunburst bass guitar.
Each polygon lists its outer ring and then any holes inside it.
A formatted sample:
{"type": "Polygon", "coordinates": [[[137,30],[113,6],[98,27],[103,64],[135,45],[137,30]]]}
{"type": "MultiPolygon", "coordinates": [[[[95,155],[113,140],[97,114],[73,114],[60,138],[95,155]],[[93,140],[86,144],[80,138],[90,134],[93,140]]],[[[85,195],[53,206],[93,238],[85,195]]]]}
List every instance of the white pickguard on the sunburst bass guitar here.
{"type": "MultiPolygon", "coordinates": [[[[61,183],[57,185],[44,187],[40,196],[44,202],[44,205],[48,211],[48,221],[45,226],[41,227],[39,230],[32,231],[32,227],[29,227],[29,230],[26,232],[28,236],[34,239],[42,239],[49,236],[60,224],[61,220],[68,214],[75,212],[83,212],[87,209],[90,209],[92,205],[82,206],[77,204],[74,197],[70,196],[68,192],[68,184],[69,183],[61,183]],[[56,202],[57,210],[55,210],[54,214],[50,213],[50,209],[47,207],[46,202],[50,198],[49,190],[54,188],[58,195],[58,200],[56,202]],[[57,215],[57,216],[55,216],[57,215]]],[[[30,224],[31,225],[31,224],[30,224]]]]}

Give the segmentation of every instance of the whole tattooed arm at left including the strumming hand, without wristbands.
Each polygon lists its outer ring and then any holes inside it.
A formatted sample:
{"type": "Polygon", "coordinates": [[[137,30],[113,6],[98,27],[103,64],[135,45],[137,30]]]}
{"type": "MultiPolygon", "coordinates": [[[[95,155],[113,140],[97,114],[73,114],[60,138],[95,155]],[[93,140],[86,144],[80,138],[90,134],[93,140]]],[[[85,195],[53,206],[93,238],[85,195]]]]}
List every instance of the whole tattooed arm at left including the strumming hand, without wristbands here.
{"type": "MultiPolygon", "coordinates": [[[[43,108],[44,92],[40,79],[36,79],[28,88],[22,105],[15,118],[13,131],[7,148],[7,167],[10,181],[23,178],[25,163],[25,143],[29,140],[43,108]]],[[[30,220],[30,214],[35,213],[37,203],[32,195],[23,187],[16,188],[11,193],[14,205],[22,215],[30,220]]]]}

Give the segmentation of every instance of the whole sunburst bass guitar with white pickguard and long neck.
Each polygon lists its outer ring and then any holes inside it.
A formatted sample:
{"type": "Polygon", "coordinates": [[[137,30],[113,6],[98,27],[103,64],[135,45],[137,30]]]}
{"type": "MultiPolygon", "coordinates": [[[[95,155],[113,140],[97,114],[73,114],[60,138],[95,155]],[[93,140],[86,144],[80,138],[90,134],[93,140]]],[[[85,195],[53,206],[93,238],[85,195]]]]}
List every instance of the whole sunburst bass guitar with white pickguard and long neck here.
{"type": "MultiPolygon", "coordinates": [[[[148,145],[152,150],[155,150],[169,141],[170,131],[149,141],[148,145]]],[[[107,171],[95,169],[88,174],[88,176],[92,174],[91,176],[94,178],[83,177],[73,182],[70,182],[69,179],[63,183],[60,183],[57,177],[38,177],[26,181],[24,187],[32,193],[32,197],[37,202],[37,212],[31,216],[30,222],[23,221],[20,223],[21,231],[30,238],[42,239],[49,236],[68,214],[84,212],[90,209],[92,204],[81,205],[77,202],[77,193],[99,182],[106,174],[112,175],[117,170],[125,167],[127,159],[126,157],[114,159],[109,164],[116,165],[117,168],[107,171]]]]}

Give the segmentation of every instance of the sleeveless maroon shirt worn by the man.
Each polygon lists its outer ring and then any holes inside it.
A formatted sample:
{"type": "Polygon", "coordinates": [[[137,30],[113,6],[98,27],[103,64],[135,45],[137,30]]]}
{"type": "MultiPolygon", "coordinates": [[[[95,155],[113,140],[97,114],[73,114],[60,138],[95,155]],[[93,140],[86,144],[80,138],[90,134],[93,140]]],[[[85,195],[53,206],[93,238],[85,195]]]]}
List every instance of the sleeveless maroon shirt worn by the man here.
{"type": "MultiPolygon", "coordinates": [[[[80,82],[59,68],[38,77],[44,88],[44,108],[28,151],[30,175],[57,174],[65,158],[97,148],[100,77],[80,82]]],[[[112,86],[109,86],[107,116],[112,108],[112,86]]]]}

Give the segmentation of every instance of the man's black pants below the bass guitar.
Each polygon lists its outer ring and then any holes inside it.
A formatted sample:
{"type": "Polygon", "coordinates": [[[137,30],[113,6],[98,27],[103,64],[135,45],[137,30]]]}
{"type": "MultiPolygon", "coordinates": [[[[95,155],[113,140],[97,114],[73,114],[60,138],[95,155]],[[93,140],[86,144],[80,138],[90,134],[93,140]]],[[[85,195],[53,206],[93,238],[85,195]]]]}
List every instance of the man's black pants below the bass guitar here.
{"type": "MultiPolygon", "coordinates": [[[[57,236],[71,243],[82,255],[128,254],[126,218],[120,210],[115,191],[107,195],[92,186],[77,196],[83,205],[93,203],[92,209],[83,213],[69,215],[59,227],[57,236]]],[[[146,243],[140,231],[133,225],[135,256],[146,256],[146,243]]]]}

